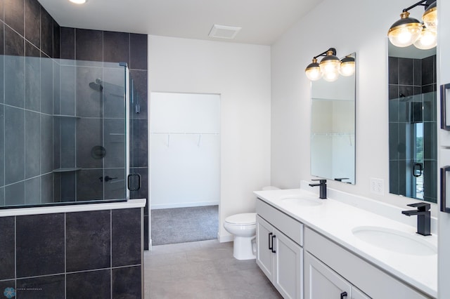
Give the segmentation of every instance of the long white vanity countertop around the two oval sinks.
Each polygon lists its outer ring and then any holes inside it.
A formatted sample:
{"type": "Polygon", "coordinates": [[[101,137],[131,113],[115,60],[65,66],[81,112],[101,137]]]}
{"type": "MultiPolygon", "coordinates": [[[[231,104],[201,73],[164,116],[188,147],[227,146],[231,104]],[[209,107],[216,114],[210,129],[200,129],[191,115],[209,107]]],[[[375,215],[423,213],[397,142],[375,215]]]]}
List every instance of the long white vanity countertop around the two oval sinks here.
{"type": "MultiPolygon", "coordinates": [[[[352,233],[352,230],[361,226],[385,227],[404,232],[411,235],[412,238],[429,242],[433,246],[437,246],[436,234],[421,236],[416,234],[416,227],[344,204],[335,199],[319,199],[316,194],[305,190],[268,190],[257,191],[255,194],[267,204],[299,220],[312,230],[323,234],[394,277],[437,298],[437,254],[417,256],[388,251],[362,241],[352,233]],[[317,201],[321,201],[321,204],[319,206],[289,204],[282,201],[282,198],[287,196],[313,197],[317,201]]],[[[413,208],[406,207],[406,209],[412,210],[413,208]]],[[[407,216],[404,215],[404,217],[407,216]]],[[[416,216],[412,217],[416,218],[416,216]]],[[[307,240],[305,240],[306,242],[307,240]]]]}

